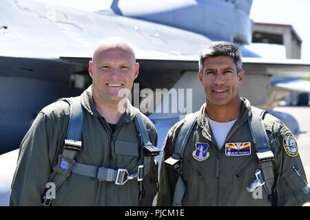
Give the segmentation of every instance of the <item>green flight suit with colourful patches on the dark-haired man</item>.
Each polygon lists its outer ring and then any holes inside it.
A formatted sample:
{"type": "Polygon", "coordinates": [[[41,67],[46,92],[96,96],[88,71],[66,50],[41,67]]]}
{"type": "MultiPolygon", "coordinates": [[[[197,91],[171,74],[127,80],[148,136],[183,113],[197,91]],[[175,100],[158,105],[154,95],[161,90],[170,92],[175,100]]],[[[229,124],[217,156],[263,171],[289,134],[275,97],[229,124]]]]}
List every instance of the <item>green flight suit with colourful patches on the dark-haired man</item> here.
{"type": "MultiPolygon", "coordinates": [[[[220,151],[205,115],[205,104],[201,107],[196,126],[183,153],[181,171],[187,186],[183,206],[271,206],[263,186],[260,186],[260,195],[256,191],[256,197],[246,190],[256,179],[254,173],[259,164],[248,124],[251,104],[245,98],[242,100],[238,120],[229,131],[220,151]],[[230,155],[230,150],[225,146],[236,143],[250,143],[251,153],[247,151],[245,155],[230,155]],[[209,154],[205,153],[206,158],[202,161],[194,158],[197,157],[197,144],[209,146],[209,154]]],[[[176,170],[163,162],[172,156],[176,137],[183,123],[184,120],[176,123],[167,135],[159,175],[157,206],[172,206],[177,174],[176,170]]],[[[275,156],[274,175],[278,197],[276,205],[300,206],[309,199],[309,187],[305,184],[307,179],[300,156],[285,152],[283,139],[285,134],[289,134],[289,129],[269,113],[263,117],[263,124],[275,156]],[[301,177],[292,167],[298,170],[301,177]]]]}

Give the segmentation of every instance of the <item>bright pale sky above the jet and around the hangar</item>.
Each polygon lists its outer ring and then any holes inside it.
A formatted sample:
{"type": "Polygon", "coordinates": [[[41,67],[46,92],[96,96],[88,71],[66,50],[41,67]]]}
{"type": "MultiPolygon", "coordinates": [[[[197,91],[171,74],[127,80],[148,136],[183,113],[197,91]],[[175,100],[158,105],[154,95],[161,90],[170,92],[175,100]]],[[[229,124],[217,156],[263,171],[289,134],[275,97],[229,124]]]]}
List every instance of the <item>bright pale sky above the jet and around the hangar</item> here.
{"type": "MultiPolygon", "coordinates": [[[[94,11],[110,6],[111,0],[38,0],[55,5],[65,5],[79,10],[94,11]]],[[[134,0],[120,0],[134,1],[134,0]]],[[[242,1],[242,0],[239,0],[242,1]]],[[[310,0],[253,0],[250,18],[259,23],[277,23],[293,25],[302,39],[303,60],[310,61],[310,0]]],[[[248,46],[265,58],[285,58],[285,47],[281,45],[248,46]]]]}

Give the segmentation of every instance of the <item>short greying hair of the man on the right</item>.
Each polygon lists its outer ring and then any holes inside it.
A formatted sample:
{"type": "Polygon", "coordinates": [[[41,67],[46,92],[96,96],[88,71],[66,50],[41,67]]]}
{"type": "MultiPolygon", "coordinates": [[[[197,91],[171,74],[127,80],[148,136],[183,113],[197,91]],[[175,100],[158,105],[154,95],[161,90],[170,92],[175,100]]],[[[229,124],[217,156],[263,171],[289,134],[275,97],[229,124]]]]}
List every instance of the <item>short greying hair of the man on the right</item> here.
{"type": "Polygon", "coordinates": [[[214,41],[203,46],[199,52],[199,70],[203,71],[206,58],[215,56],[230,56],[236,64],[237,73],[242,70],[242,54],[239,47],[226,41],[214,41]]]}

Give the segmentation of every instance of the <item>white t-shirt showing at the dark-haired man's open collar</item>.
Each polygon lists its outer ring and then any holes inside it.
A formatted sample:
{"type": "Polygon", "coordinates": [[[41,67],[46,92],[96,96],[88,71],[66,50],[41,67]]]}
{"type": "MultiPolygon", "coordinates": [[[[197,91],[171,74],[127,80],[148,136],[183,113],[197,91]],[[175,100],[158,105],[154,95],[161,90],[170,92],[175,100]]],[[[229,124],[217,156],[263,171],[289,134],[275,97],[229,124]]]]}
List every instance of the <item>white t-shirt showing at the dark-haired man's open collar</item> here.
{"type": "Polygon", "coordinates": [[[218,144],[218,149],[220,150],[225,143],[227,134],[229,133],[231,127],[234,125],[238,118],[230,122],[216,122],[214,120],[211,120],[208,116],[207,119],[209,122],[209,126],[212,129],[214,138],[216,139],[216,143],[218,144]]]}

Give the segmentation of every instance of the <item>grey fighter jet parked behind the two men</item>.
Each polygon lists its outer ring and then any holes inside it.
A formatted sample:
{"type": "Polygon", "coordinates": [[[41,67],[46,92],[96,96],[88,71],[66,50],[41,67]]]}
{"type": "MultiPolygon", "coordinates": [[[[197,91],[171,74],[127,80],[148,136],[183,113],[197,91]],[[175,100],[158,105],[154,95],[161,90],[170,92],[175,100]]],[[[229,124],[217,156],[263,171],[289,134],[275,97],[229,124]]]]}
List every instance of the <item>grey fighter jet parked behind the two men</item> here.
{"type": "MultiPolygon", "coordinates": [[[[159,147],[175,122],[205,102],[197,78],[197,54],[205,43],[224,40],[240,45],[247,74],[240,93],[258,107],[271,109],[294,88],[310,93],[310,85],[300,79],[292,79],[290,86],[287,81],[273,81],[274,76],[310,76],[309,63],[267,61],[243,46],[251,43],[250,0],[152,2],[141,3],[139,11],[145,12],[143,15],[121,8],[118,1],[105,10],[99,6],[95,12],[34,0],[1,1],[0,154],[6,154],[0,156],[0,166],[7,169],[0,171],[0,205],[8,201],[18,154],[13,150],[19,148],[43,107],[60,97],[78,96],[91,84],[88,61],[96,43],[106,36],[121,36],[134,46],[141,63],[136,79],[140,90],[192,89],[192,96],[183,100],[191,104],[186,109],[189,111],[163,113],[165,104],[172,107],[179,98],[172,100],[166,94],[154,113],[147,113],[158,129],[159,147]]],[[[138,96],[138,105],[141,101],[143,97],[138,96]]],[[[298,132],[293,118],[285,123],[298,132]]]]}

